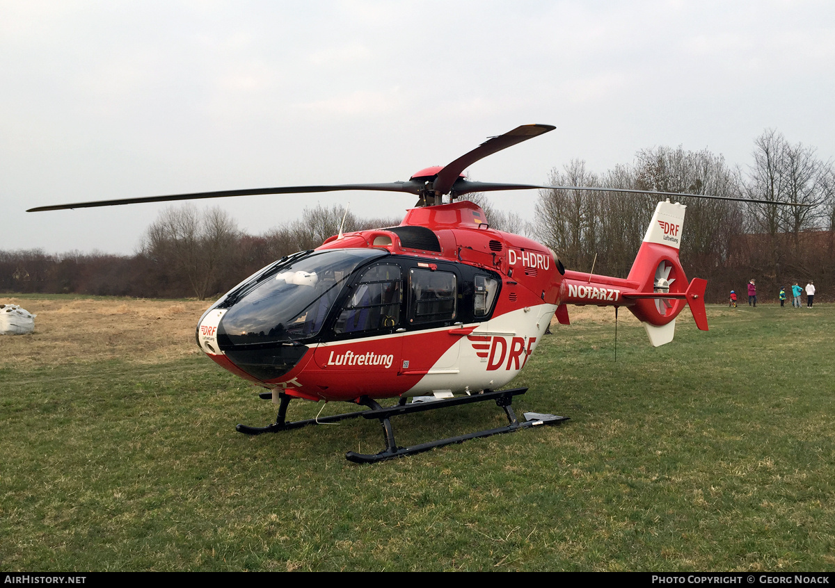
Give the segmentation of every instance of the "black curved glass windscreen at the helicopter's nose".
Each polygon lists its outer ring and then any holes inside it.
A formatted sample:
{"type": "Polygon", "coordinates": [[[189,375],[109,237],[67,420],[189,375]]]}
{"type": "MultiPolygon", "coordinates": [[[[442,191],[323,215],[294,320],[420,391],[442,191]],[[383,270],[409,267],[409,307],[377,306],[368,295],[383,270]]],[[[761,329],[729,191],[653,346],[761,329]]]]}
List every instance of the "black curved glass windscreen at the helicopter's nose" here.
{"type": "Polygon", "coordinates": [[[316,337],[354,270],[384,255],[380,249],[314,251],[255,274],[227,294],[219,343],[295,343],[316,337]]]}

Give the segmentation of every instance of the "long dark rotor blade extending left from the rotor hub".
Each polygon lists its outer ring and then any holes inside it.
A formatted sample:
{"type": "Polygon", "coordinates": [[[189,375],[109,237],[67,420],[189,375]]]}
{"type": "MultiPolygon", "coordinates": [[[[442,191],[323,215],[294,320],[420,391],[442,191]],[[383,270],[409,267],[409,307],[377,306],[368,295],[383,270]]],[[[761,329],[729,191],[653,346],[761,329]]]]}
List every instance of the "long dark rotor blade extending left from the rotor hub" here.
{"type": "Polygon", "coordinates": [[[120,204],[142,204],[145,202],[170,202],[173,200],[199,200],[205,198],[224,198],[226,196],[253,196],[256,194],[294,194],[309,192],[335,192],[337,190],[377,190],[382,192],[406,192],[419,194],[423,189],[421,182],[392,183],[345,183],[333,186],[284,186],[280,188],[251,188],[244,190],[221,190],[219,192],[195,192],[189,194],[170,194],[169,196],[146,196],[144,198],[124,198],[115,200],[96,200],[73,204],[55,204],[28,209],[28,213],[46,210],[90,209],[97,206],[119,206],[120,204]]]}

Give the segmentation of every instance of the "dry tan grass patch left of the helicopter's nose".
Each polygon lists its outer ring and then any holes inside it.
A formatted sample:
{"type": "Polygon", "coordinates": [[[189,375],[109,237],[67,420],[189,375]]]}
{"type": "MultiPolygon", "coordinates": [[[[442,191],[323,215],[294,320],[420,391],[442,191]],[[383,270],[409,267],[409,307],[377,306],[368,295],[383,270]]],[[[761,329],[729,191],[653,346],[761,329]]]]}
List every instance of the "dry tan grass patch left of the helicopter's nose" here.
{"type": "Polygon", "coordinates": [[[35,319],[35,332],[0,337],[0,367],[126,359],[139,364],[199,354],[195,327],[207,301],[2,299],[35,319]]]}

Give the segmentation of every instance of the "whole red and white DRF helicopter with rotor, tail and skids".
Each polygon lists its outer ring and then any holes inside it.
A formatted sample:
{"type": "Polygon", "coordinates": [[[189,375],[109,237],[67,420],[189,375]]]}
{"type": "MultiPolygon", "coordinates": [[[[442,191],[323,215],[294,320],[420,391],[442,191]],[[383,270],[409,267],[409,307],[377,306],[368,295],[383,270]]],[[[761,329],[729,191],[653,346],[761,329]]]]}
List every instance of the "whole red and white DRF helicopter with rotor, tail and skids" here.
{"type": "Polygon", "coordinates": [[[679,263],[684,205],[669,199],[658,204],[629,276],[620,279],[566,270],[544,245],[490,229],[476,204],[455,202],[473,192],[577,189],[471,182],[462,175],[471,163],[552,129],[541,124],[515,128],[447,166],[423,169],[407,182],[175,194],[29,212],[331,190],[417,195],[417,208],[397,227],[340,233],[315,250],[261,269],[213,304],[196,333],[200,349],[215,363],[270,389],[261,396],[280,405],[272,425],[238,425],[237,430],[257,435],[358,416],[378,419],[386,448],[374,455],[349,451],[347,459],[385,460],[565,420],[535,413],[519,420],[511,403],[526,389],[495,390],[524,368],[554,314],[559,323],[569,323],[568,304],[625,306],[656,346],[673,339],[676,316],[686,305],[698,328],[707,329],[706,281],[688,282],[679,263]],[[450,203],[442,204],[446,195],[450,203]],[[389,398],[399,402],[385,408],[377,402],[389,398]],[[346,401],[367,410],[288,422],[286,410],[293,399],[346,401]],[[483,400],[502,407],[509,425],[410,447],[399,447],[394,440],[393,415],[483,400]]]}

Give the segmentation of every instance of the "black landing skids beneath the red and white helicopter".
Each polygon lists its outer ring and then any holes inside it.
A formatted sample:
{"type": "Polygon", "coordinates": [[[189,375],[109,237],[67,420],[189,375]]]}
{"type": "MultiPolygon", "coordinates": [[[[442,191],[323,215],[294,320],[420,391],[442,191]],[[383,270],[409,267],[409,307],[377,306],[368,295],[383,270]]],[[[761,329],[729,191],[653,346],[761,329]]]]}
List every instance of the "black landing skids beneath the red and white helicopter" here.
{"type": "Polygon", "coordinates": [[[282,430],[298,429],[306,425],[324,425],[326,423],[335,423],[340,420],[356,419],[362,416],[364,419],[377,419],[382,425],[383,435],[386,438],[386,449],[376,454],[357,453],[355,451],[348,451],[345,457],[349,461],[357,464],[372,464],[377,461],[391,460],[395,457],[404,457],[406,455],[413,455],[434,449],[435,447],[443,447],[444,445],[453,445],[453,443],[462,443],[470,439],[478,439],[480,437],[489,437],[490,435],[500,435],[502,433],[510,433],[514,430],[527,429],[537,425],[559,425],[568,417],[557,415],[541,415],[539,413],[524,413],[523,421],[516,418],[514,409],[511,406],[514,396],[522,395],[527,392],[527,388],[514,388],[509,390],[499,390],[498,392],[492,390],[485,390],[481,394],[472,396],[461,396],[459,398],[449,398],[443,400],[430,400],[428,402],[406,404],[406,399],[401,398],[397,405],[383,408],[377,404],[377,401],[362,396],[359,400],[360,405],[368,407],[368,410],[357,410],[355,412],[344,413],[342,415],[322,416],[316,419],[296,420],[286,422],[287,405],[292,400],[291,396],[280,393],[281,404],[278,409],[278,417],[276,422],[266,427],[251,427],[247,425],[237,425],[235,430],[245,435],[261,435],[261,433],[277,433],[282,430]],[[468,405],[474,402],[484,402],[485,400],[495,400],[496,405],[504,410],[507,415],[509,425],[498,427],[498,429],[487,429],[470,433],[468,435],[458,435],[457,437],[449,437],[447,439],[439,439],[423,443],[421,445],[412,445],[410,447],[398,447],[394,441],[394,429],[390,417],[396,415],[407,415],[413,412],[424,412],[426,410],[443,409],[448,406],[468,405]]]}

